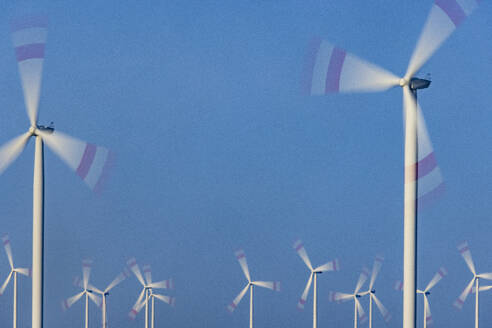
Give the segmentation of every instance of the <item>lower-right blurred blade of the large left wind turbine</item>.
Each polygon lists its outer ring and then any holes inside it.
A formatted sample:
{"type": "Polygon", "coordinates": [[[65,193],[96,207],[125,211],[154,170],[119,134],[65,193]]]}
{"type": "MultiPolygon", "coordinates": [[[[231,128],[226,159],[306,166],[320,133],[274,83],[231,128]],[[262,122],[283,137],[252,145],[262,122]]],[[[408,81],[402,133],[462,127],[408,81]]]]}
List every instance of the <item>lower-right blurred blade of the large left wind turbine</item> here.
{"type": "Polygon", "coordinates": [[[104,147],[75,139],[62,132],[37,130],[46,144],[95,192],[101,191],[113,165],[113,154],[104,147]]]}

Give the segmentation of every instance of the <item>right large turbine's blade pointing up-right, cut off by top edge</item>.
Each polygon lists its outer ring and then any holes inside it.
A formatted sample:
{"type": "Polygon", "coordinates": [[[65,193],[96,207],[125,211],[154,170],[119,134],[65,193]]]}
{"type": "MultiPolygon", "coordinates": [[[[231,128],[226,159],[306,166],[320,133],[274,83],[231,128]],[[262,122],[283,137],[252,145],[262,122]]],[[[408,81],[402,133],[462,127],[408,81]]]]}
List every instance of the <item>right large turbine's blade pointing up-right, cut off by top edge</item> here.
{"type": "Polygon", "coordinates": [[[411,78],[477,7],[479,0],[435,0],[405,78],[411,78]]]}

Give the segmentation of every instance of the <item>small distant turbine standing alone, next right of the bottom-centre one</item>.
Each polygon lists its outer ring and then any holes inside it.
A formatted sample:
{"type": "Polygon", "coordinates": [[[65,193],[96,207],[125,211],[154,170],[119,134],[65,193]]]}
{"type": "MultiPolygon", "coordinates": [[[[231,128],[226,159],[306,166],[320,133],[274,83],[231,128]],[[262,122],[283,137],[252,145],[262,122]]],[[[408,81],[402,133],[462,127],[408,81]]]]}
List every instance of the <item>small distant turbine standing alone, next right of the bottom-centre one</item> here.
{"type": "Polygon", "coordinates": [[[304,304],[306,304],[306,300],[309,294],[309,289],[311,288],[311,283],[314,281],[314,287],[313,287],[313,328],[316,328],[318,326],[318,286],[317,286],[317,276],[320,273],[323,272],[328,272],[328,271],[338,271],[340,270],[340,265],[338,263],[338,259],[335,259],[333,261],[327,262],[323,265],[320,265],[317,268],[313,269],[313,265],[311,264],[311,261],[309,260],[309,257],[306,253],[306,250],[304,249],[304,244],[300,239],[296,240],[294,242],[294,249],[296,250],[297,254],[301,257],[301,259],[304,261],[306,266],[308,267],[310,274],[309,274],[309,279],[306,283],[306,287],[304,288],[304,292],[301,295],[301,298],[299,299],[299,302],[297,303],[297,307],[299,309],[304,309],[304,304]]]}

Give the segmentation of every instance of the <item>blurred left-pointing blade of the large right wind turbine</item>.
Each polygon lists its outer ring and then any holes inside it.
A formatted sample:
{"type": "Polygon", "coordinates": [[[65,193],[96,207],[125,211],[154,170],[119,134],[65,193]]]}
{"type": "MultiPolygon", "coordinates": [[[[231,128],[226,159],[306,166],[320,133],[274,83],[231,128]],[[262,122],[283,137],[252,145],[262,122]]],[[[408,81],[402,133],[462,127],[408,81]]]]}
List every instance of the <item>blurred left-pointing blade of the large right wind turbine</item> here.
{"type": "Polygon", "coordinates": [[[399,84],[391,72],[324,40],[314,40],[305,67],[308,94],[384,91],[399,84]]]}

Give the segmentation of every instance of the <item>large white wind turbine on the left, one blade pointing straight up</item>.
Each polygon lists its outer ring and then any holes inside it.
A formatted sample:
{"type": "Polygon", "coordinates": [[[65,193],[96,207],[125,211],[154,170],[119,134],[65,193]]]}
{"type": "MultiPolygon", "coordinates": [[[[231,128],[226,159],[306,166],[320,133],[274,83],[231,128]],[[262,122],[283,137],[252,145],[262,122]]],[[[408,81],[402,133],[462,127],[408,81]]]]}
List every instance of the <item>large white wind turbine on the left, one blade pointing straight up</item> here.
{"type": "Polygon", "coordinates": [[[112,162],[111,153],[102,147],[55,132],[53,126],[38,123],[47,20],[28,17],[12,24],[15,56],[24,92],[30,127],[27,132],[0,147],[0,174],[20,155],[27,142],[35,139],[33,179],[32,241],[32,328],[43,327],[44,254],[44,144],[94,190],[100,190],[112,162]]]}

